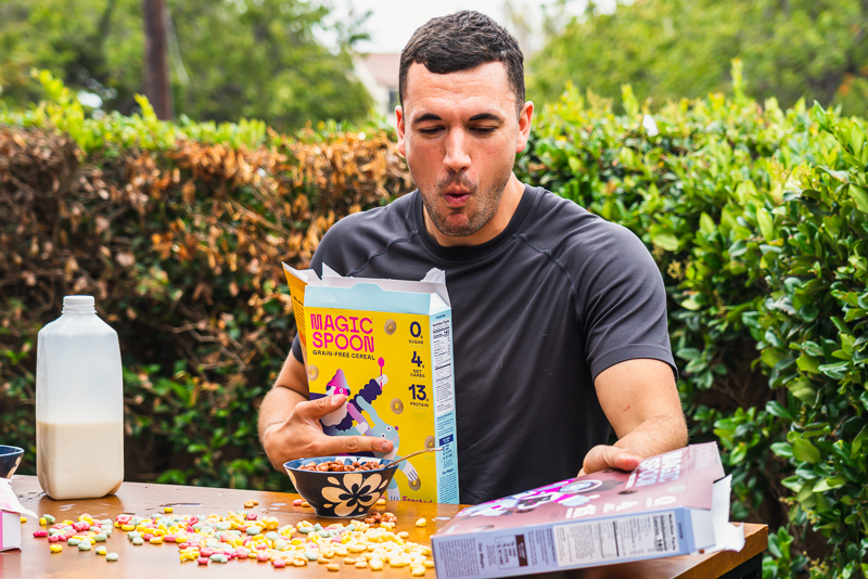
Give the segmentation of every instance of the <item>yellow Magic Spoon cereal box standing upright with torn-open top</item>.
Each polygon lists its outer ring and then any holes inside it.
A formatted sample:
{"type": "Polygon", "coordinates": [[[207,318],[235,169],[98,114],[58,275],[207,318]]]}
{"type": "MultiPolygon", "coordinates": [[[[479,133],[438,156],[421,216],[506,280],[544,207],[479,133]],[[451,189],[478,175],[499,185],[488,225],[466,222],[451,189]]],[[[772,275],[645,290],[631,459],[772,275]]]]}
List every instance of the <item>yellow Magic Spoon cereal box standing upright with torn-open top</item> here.
{"type": "Polygon", "coordinates": [[[347,396],[322,419],[323,432],[388,438],[390,459],[441,448],[403,462],[387,496],[457,504],[451,307],[443,272],[411,282],[342,278],[324,265],[321,280],[311,270],[284,270],[294,278],[310,399],[347,396]]]}

